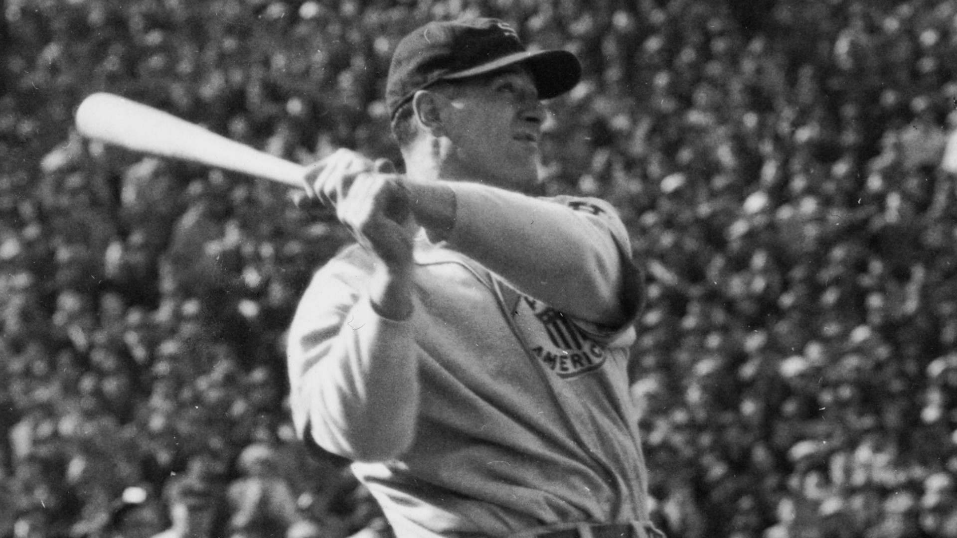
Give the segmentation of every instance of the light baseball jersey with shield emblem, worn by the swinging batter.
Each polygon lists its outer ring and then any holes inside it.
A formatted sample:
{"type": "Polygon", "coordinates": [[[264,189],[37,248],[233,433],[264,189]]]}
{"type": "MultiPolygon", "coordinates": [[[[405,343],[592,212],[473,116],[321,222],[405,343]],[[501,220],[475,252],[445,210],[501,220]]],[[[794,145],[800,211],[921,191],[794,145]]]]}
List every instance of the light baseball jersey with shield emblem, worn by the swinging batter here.
{"type": "Polygon", "coordinates": [[[448,241],[416,242],[411,318],[375,312],[377,261],[358,246],[316,274],[289,337],[300,434],[355,460],[400,538],[647,521],[634,327],[601,329],[525,293],[615,300],[620,286],[598,284],[630,265],[624,226],[600,200],[454,189],[448,241]],[[470,234],[499,235],[547,281],[489,271],[462,253],[481,248],[462,246],[470,234]]]}

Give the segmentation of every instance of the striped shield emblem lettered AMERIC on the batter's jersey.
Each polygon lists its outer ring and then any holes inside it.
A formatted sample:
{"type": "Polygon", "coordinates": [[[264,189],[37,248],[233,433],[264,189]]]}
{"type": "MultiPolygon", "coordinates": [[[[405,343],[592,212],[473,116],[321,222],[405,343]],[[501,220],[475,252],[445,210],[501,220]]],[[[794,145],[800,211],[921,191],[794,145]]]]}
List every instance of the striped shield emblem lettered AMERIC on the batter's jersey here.
{"type": "Polygon", "coordinates": [[[605,364],[608,348],[541,301],[522,297],[512,319],[532,356],[559,377],[568,379],[605,364]]]}

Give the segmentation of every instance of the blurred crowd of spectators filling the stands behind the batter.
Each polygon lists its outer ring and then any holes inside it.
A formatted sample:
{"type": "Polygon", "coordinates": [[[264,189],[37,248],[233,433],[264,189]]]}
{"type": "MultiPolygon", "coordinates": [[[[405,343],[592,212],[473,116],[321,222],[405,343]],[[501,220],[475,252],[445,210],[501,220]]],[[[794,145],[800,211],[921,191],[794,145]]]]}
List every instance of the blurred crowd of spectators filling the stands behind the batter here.
{"type": "Polygon", "coordinates": [[[303,164],[397,159],[392,47],[469,13],[583,59],[543,193],[611,201],[646,270],[634,397],[659,525],[957,537],[954,2],[0,12],[0,537],[388,535],[284,401],[286,325],[345,231],[285,187],[84,141],[72,115],[109,91],[303,164]]]}

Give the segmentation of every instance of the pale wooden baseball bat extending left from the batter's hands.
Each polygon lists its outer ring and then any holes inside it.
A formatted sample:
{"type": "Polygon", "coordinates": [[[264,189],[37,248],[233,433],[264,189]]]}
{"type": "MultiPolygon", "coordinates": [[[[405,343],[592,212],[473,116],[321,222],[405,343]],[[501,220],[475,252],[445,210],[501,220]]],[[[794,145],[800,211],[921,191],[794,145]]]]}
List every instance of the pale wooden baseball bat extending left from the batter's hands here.
{"type": "Polygon", "coordinates": [[[233,170],[302,189],[305,167],[142,102],[108,93],[92,94],[80,103],[76,122],[80,134],[107,144],[233,170]]]}

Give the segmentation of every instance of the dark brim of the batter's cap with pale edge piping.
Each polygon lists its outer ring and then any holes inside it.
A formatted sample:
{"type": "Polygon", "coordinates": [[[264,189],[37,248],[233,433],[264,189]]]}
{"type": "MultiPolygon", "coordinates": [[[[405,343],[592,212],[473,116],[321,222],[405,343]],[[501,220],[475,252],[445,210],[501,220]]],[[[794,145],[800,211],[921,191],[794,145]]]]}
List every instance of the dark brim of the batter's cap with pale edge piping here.
{"type": "Polygon", "coordinates": [[[512,65],[528,67],[535,87],[539,92],[539,99],[558,97],[574,88],[582,78],[582,65],[578,57],[563,50],[537,51],[513,53],[501,56],[488,63],[458,71],[441,77],[443,80],[470,78],[492,73],[512,65]]]}

